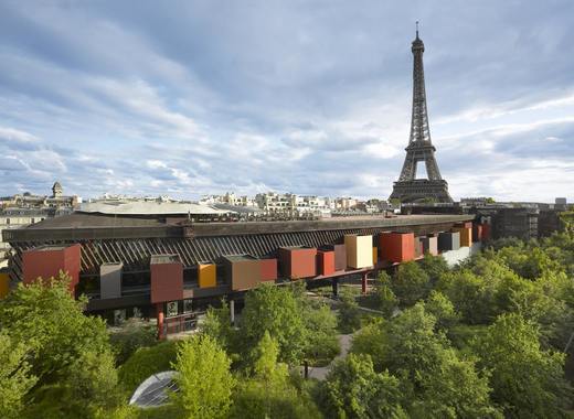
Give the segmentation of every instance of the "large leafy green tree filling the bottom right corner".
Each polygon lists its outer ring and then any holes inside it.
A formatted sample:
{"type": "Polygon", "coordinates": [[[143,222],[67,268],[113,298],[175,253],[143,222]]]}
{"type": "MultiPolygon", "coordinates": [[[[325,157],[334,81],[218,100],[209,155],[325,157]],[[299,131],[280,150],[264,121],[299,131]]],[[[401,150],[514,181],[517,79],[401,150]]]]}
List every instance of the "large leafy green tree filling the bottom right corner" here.
{"type": "Polygon", "coordinates": [[[491,370],[492,400],[510,418],[565,415],[572,390],[564,378],[564,355],[542,351],[539,331],[520,314],[501,314],[477,339],[479,366],[491,370]]]}

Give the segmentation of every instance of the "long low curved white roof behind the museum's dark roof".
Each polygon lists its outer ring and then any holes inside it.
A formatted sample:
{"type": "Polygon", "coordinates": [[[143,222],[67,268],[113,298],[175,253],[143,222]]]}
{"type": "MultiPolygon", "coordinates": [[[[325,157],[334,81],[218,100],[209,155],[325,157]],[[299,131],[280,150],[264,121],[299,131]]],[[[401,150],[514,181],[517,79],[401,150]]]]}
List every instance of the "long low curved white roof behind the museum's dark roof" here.
{"type": "Polygon", "coordinates": [[[220,215],[233,211],[216,210],[209,205],[185,202],[160,202],[140,200],[110,200],[83,203],[79,207],[83,213],[100,213],[117,215],[220,215]]]}

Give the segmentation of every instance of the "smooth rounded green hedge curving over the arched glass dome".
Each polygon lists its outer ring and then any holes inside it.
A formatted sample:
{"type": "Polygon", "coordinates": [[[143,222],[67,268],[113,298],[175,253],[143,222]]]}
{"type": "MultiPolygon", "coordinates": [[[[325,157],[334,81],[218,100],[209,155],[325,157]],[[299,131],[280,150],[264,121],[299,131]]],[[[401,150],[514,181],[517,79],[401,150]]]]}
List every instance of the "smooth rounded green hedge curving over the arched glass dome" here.
{"type": "Polygon", "coordinates": [[[120,366],[118,376],[123,387],[132,393],[146,378],[171,369],[176,361],[178,343],[166,341],[151,347],[140,347],[120,366]]]}

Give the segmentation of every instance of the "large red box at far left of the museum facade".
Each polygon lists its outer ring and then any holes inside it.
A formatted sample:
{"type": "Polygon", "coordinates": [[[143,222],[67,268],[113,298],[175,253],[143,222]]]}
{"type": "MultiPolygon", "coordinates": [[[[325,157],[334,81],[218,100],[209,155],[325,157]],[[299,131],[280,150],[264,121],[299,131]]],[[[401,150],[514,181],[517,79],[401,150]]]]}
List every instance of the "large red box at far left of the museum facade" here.
{"type": "Polygon", "coordinates": [[[82,246],[41,246],[22,254],[22,281],[31,283],[38,278],[57,278],[60,271],[71,277],[70,291],[79,281],[82,246]]]}

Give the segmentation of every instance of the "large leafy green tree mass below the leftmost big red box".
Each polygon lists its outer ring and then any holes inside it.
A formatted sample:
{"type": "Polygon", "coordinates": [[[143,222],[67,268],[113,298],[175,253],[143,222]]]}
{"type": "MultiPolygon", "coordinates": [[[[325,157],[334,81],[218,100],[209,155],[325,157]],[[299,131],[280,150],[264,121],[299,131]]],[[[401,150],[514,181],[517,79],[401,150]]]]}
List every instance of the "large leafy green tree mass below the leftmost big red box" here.
{"type": "MultiPolygon", "coordinates": [[[[24,416],[94,417],[118,402],[117,376],[106,326],[83,313],[68,281],[35,281],[19,287],[0,304],[0,325],[15,353],[26,348],[25,369],[38,378],[30,388],[23,377],[24,416]]],[[[18,372],[14,372],[18,374],[18,372]]]]}

